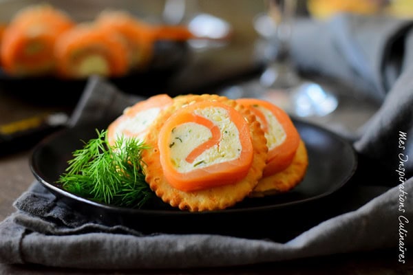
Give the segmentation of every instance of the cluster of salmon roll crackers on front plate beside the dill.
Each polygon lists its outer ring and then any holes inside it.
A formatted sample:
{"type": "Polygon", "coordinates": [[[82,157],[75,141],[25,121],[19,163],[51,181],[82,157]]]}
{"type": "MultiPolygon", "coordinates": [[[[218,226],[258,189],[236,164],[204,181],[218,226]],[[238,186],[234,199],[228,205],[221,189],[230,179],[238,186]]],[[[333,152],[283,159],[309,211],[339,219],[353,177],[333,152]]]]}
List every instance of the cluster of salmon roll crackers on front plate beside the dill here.
{"type": "Polygon", "coordinates": [[[303,179],[306,146],[275,105],[209,94],[168,98],[138,102],[108,128],[109,140],[126,133],[149,145],[146,181],[166,203],[221,210],[245,197],[287,192],[303,179]]]}

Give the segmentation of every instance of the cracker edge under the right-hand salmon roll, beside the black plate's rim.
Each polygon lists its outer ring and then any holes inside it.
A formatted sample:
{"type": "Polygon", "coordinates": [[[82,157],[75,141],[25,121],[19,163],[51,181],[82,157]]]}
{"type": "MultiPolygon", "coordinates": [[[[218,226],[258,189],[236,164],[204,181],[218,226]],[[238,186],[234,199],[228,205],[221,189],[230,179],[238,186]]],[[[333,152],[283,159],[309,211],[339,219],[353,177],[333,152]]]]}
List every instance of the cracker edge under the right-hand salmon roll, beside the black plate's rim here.
{"type": "Polygon", "coordinates": [[[263,177],[258,181],[250,197],[275,195],[293,189],[302,181],[308,166],[308,155],[304,142],[301,140],[293,162],[279,173],[263,177]]]}

